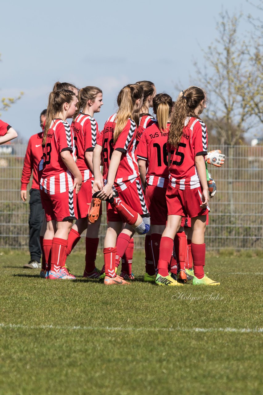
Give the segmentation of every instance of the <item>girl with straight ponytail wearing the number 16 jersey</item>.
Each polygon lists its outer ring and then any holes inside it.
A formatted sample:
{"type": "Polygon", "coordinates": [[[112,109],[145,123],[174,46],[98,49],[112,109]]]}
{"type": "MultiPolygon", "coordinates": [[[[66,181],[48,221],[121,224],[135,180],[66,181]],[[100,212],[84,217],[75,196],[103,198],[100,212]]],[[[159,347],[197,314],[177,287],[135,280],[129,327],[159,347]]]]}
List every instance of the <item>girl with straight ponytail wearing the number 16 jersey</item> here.
{"type": "Polygon", "coordinates": [[[147,282],[155,282],[160,239],[167,220],[165,194],[169,172],[166,143],[172,108],[173,101],[168,94],[159,93],[153,98],[153,112],[156,114],[157,123],[144,130],[137,147],[140,177],[145,187],[145,201],[151,214],[151,235],[146,236],[149,241],[145,237],[144,281],[147,282]],[[149,255],[152,259],[148,258],[149,255]]]}

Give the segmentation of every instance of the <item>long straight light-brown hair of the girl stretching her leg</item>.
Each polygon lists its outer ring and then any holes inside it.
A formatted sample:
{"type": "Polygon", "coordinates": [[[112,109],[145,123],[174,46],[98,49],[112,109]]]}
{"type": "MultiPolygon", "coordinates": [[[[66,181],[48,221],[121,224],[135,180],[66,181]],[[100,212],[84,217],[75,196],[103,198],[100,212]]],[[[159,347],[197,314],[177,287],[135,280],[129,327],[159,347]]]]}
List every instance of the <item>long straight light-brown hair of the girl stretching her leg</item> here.
{"type": "MultiPolygon", "coordinates": [[[[134,105],[136,100],[143,97],[144,90],[138,84],[126,85],[118,94],[117,103],[119,109],[115,118],[116,126],[114,129],[114,143],[116,143],[120,133],[123,131],[129,118],[134,120],[134,105]]],[[[135,120],[134,120],[135,122],[135,120]]]]}

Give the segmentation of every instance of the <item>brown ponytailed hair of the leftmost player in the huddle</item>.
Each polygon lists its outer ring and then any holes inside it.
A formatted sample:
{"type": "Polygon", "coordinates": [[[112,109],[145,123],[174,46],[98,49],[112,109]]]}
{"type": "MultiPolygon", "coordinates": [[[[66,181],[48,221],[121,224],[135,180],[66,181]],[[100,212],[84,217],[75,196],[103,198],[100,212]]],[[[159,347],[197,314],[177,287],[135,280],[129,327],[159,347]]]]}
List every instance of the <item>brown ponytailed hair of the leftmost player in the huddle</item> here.
{"type": "Polygon", "coordinates": [[[74,100],[75,94],[72,90],[61,89],[53,91],[48,96],[47,116],[43,132],[42,145],[45,145],[47,139],[47,132],[50,128],[51,122],[62,111],[64,103],[71,103],[74,100]]]}

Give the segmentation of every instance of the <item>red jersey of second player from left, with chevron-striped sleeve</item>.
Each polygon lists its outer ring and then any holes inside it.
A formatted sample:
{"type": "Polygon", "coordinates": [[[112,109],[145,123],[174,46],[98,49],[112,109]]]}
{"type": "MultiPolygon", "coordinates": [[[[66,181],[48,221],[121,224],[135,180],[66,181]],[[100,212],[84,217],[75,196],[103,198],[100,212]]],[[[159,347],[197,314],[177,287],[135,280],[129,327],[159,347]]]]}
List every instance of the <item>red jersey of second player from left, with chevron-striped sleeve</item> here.
{"type": "Polygon", "coordinates": [[[93,173],[85,159],[85,152],[93,151],[99,137],[99,126],[90,115],[80,113],[75,121],[72,122],[71,127],[76,146],[76,164],[85,182],[93,177],[93,173]]]}

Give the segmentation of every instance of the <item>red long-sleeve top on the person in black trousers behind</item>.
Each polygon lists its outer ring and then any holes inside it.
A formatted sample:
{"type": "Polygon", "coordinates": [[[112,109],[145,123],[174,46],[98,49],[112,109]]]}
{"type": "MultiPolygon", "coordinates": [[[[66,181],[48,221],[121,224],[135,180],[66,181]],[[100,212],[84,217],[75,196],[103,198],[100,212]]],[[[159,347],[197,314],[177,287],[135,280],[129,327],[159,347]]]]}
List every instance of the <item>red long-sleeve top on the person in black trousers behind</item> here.
{"type": "Polygon", "coordinates": [[[30,181],[32,171],[33,171],[32,188],[39,189],[39,183],[37,177],[37,165],[39,164],[39,161],[42,156],[43,156],[42,132],[40,132],[31,136],[28,141],[26,156],[24,158],[22,177],[21,177],[21,191],[26,190],[26,186],[30,181]]]}

